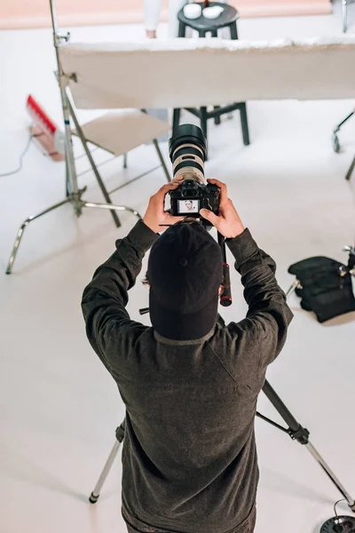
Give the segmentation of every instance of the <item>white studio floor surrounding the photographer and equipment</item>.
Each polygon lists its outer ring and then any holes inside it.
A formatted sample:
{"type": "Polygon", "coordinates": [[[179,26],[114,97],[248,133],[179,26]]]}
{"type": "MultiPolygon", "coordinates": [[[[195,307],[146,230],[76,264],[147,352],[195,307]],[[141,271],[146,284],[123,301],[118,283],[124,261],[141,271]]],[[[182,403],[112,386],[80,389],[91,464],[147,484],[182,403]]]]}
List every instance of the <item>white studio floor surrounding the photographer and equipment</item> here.
{"type": "MultiPolygon", "coordinates": [[[[338,7],[324,17],[241,20],[241,38],[339,35],[338,7]]],[[[354,31],[355,4],[350,7],[354,31]]],[[[162,25],[162,36],[165,31],[162,25]]],[[[72,28],[73,40],[87,42],[142,35],[141,26],[72,28]]],[[[58,122],[60,107],[50,30],[0,32],[0,50],[2,173],[16,167],[26,145],[28,93],[58,122]]],[[[293,281],[287,273],[291,263],[312,255],[345,260],[343,244],[353,240],[355,175],[352,187],[344,175],[355,152],[355,120],[341,131],[343,152],[336,155],[331,145],[335,124],[353,106],[353,100],[250,102],[250,147],[242,145],[237,114],[218,127],[209,124],[207,175],[228,184],[257,243],[276,259],[285,289],[293,281]]],[[[166,145],[163,149],[167,155],[166,145]]],[[[153,147],[140,147],[130,153],[127,171],[116,160],[102,167],[102,176],[111,189],[156,164],[153,147]]],[[[78,170],[86,168],[81,158],[78,170]]],[[[80,182],[88,185],[87,199],[101,200],[90,172],[80,182]]],[[[144,211],[163,183],[161,169],[155,170],[113,200],[144,211]]],[[[0,191],[0,531],[123,533],[120,460],[99,503],[87,501],[124,410],[113,379],[85,338],[80,299],[94,269],[135,219],[123,214],[116,230],[106,211],[75,219],[71,208],[63,207],[28,227],[13,274],[5,276],[20,222],[63,197],[64,165],[32,146],[23,170],[0,179],[0,191]]],[[[236,273],[232,282],[234,306],[224,315],[238,320],[245,305],[236,273]]],[[[138,283],[131,291],[131,316],[139,319],[138,308],[146,304],[146,289],[138,283]]],[[[355,496],[355,313],[320,325],[295,296],[290,305],[295,319],[288,344],[268,378],[355,496]]],[[[263,394],[259,408],[273,415],[263,394]]],[[[256,434],[261,469],[256,533],[318,532],[332,516],[338,492],[287,435],[260,420],[256,434]]],[[[339,511],[347,513],[347,506],[339,505],[339,511]]]]}

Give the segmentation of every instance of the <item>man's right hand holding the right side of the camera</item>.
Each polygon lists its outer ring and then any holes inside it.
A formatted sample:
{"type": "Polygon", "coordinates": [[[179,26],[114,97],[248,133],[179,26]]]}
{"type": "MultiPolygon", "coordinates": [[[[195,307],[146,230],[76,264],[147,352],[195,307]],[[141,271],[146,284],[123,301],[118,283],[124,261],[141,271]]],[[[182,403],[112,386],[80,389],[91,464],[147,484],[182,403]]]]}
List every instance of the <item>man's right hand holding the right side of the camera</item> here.
{"type": "Polygon", "coordinates": [[[208,179],[207,181],[212,185],[217,185],[217,187],[221,189],[219,213],[217,216],[208,209],[201,209],[201,216],[204,219],[209,220],[221,235],[224,235],[229,239],[238,237],[238,235],[243,233],[245,228],[232,200],[228,198],[227,186],[225,183],[218,181],[218,179],[208,179]]]}

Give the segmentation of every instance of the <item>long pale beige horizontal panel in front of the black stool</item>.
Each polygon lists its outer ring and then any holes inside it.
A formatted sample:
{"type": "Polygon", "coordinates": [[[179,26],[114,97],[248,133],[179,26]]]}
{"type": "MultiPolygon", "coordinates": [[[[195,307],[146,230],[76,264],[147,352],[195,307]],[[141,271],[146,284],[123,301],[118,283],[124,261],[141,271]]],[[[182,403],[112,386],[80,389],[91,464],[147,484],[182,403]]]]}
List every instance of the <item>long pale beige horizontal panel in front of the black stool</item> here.
{"type": "Polygon", "coordinates": [[[355,97],[355,36],[66,44],[59,54],[79,108],[355,97]]]}

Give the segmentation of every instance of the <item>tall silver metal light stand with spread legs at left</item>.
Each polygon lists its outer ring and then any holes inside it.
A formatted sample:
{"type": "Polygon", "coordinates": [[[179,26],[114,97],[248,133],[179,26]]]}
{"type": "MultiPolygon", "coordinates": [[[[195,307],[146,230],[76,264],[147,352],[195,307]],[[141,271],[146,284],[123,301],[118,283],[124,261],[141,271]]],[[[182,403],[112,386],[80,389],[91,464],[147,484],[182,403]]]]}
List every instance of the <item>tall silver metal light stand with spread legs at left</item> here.
{"type": "Polygon", "coordinates": [[[138,219],[141,218],[138,211],[130,207],[126,207],[124,205],[114,205],[112,203],[111,198],[107,193],[105,184],[102,181],[101,176],[99,175],[98,168],[92,158],[89,147],[87,146],[87,142],[83,134],[83,130],[80,127],[80,124],[78,123],[78,120],[76,118],[75,110],[70,103],[70,99],[67,94],[68,80],[67,80],[67,77],[64,76],[63,69],[60,66],[59,47],[61,44],[67,43],[70,35],[67,34],[66,36],[63,36],[59,34],[56,12],[55,12],[55,0],[50,0],[50,6],[51,6],[51,25],[53,28],[53,44],[54,44],[54,48],[56,52],[56,59],[57,59],[57,66],[58,66],[57,77],[58,77],[58,83],[59,83],[61,106],[63,109],[63,117],[64,117],[65,152],[66,152],[66,195],[67,197],[61,202],[55,203],[54,205],[51,205],[44,211],[41,211],[40,213],[30,216],[28,217],[28,219],[24,220],[24,222],[20,226],[20,229],[16,236],[15,243],[13,245],[12,253],[11,253],[7,268],[6,268],[6,274],[12,273],[13,263],[16,259],[16,255],[19,250],[23,232],[25,228],[28,226],[28,224],[32,222],[33,220],[39,219],[40,217],[43,217],[43,215],[46,215],[47,213],[56,210],[62,205],[71,203],[75,211],[75,215],[77,217],[80,217],[80,215],[83,212],[83,208],[85,207],[109,210],[112,213],[112,217],[114,219],[114,223],[116,227],[120,227],[121,224],[120,224],[120,220],[117,217],[117,213],[115,211],[130,211],[136,217],[138,217],[138,219]],[[82,198],[83,193],[86,190],[86,187],[79,189],[78,183],[77,183],[77,175],[76,175],[76,170],[75,170],[75,157],[74,157],[74,150],[73,150],[73,139],[72,139],[72,131],[70,127],[70,118],[72,118],[73,122],[75,123],[75,129],[77,131],[77,135],[79,139],[81,139],[82,141],[83,148],[91,164],[92,171],[94,172],[95,177],[98,180],[99,187],[102,191],[102,194],[104,195],[106,203],[85,202],[82,198]]]}

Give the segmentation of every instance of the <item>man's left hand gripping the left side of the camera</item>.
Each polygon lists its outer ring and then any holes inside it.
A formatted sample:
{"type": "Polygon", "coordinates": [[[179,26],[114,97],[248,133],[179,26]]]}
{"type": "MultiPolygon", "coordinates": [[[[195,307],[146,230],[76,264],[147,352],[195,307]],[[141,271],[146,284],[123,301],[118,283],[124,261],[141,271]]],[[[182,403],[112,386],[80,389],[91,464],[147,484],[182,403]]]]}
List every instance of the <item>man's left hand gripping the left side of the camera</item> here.
{"type": "Polygon", "coordinates": [[[178,220],[184,219],[184,217],[173,217],[164,211],[165,196],[169,191],[175,190],[182,181],[182,178],[173,179],[170,183],[160,188],[155,195],[150,197],[146,214],[143,217],[143,222],[147,227],[150,227],[154,233],[160,233],[164,231],[164,226],[172,226],[173,224],[176,224],[178,220]]]}

